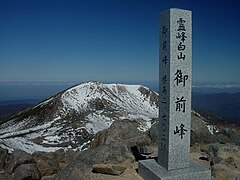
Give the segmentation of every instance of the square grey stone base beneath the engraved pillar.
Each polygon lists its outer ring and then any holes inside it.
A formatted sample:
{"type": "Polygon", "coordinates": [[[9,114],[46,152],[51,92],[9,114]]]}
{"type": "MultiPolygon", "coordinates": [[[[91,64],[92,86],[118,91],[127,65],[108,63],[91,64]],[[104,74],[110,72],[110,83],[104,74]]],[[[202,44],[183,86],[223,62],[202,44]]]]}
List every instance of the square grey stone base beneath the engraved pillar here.
{"type": "Polygon", "coordinates": [[[191,162],[189,168],[166,170],[154,159],[138,163],[138,173],[144,180],[210,180],[211,171],[191,162]]]}

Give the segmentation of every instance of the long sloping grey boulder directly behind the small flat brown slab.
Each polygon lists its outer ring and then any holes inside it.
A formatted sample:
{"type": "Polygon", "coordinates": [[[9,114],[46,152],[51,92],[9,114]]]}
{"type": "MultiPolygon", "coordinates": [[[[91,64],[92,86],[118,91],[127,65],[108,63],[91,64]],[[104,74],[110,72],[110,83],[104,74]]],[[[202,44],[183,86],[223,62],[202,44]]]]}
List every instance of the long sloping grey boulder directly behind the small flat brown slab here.
{"type": "Polygon", "coordinates": [[[123,142],[100,145],[94,149],[78,152],[73,161],[57,174],[56,179],[75,179],[77,174],[91,172],[94,164],[125,164],[134,160],[131,150],[123,142]]]}

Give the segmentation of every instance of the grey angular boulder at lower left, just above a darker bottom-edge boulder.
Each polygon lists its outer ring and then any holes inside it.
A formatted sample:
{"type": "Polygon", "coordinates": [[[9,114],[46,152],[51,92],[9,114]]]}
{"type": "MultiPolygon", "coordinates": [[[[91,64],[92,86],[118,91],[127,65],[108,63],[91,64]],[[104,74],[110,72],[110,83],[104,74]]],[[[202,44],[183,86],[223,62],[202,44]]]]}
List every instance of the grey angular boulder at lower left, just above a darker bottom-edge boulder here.
{"type": "Polygon", "coordinates": [[[15,171],[15,169],[21,164],[32,164],[32,163],[35,163],[35,161],[30,154],[22,150],[16,149],[10,155],[10,160],[6,164],[6,171],[9,174],[12,174],[15,171]]]}

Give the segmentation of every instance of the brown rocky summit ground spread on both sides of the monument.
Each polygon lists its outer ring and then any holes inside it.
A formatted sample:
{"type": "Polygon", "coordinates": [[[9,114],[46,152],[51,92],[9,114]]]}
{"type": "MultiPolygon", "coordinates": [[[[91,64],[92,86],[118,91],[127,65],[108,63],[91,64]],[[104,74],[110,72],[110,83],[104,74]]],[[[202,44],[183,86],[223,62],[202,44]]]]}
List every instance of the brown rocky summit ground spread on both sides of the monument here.
{"type": "MultiPolygon", "coordinates": [[[[138,161],[157,156],[156,123],[147,132],[136,122],[115,121],[100,131],[85,151],[36,152],[0,150],[0,179],[142,179],[138,161]]],[[[217,129],[217,127],[215,127],[217,129]]],[[[197,113],[192,114],[192,161],[211,169],[212,179],[235,180],[240,176],[240,133],[230,127],[211,134],[197,113]]]]}

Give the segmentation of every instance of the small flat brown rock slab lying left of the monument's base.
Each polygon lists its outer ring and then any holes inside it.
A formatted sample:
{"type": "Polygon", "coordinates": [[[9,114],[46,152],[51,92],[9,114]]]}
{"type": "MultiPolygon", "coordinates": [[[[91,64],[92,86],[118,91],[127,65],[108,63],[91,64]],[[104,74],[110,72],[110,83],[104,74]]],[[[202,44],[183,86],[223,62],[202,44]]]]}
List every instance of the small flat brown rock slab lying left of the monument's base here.
{"type": "Polygon", "coordinates": [[[93,172],[101,174],[110,174],[110,175],[120,175],[122,174],[126,167],[121,164],[94,164],[93,172]]]}

